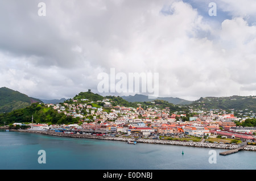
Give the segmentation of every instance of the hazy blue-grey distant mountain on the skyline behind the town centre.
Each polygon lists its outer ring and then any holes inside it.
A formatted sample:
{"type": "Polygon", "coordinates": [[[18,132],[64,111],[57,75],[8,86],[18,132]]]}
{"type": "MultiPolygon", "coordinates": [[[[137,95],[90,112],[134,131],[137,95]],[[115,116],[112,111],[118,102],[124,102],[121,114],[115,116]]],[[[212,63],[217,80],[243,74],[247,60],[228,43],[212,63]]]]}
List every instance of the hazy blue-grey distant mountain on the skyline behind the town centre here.
{"type": "Polygon", "coordinates": [[[154,99],[148,99],[147,95],[135,94],[129,96],[121,96],[121,98],[127,100],[128,102],[151,102],[154,100],[166,100],[172,104],[179,104],[179,105],[187,105],[191,104],[192,101],[184,100],[180,98],[172,98],[172,97],[155,97],[154,99]]]}

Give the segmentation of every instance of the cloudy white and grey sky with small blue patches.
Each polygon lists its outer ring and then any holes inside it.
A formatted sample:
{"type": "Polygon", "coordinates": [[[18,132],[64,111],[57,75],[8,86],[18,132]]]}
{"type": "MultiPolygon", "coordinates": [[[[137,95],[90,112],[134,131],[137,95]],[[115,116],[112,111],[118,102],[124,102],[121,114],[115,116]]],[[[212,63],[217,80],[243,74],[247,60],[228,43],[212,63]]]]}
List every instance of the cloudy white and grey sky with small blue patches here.
{"type": "Polygon", "coordinates": [[[72,98],[98,93],[98,74],[114,68],[158,73],[159,96],[256,95],[255,9],[255,0],[1,0],[0,87],[72,98]]]}

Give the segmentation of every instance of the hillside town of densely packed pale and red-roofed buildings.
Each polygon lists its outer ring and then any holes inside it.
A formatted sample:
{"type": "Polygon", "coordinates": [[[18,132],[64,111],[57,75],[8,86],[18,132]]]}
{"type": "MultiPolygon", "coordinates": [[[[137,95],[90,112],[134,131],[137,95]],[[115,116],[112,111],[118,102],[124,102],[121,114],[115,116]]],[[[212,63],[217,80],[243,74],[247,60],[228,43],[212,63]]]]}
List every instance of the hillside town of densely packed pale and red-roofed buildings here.
{"type": "MultiPolygon", "coordinates": [[[[230,144],[227,140],[253,143],[256,139],[256,127],[237,126],[237,123],[244,123],[250,117],[236,117],[233,112],[226,113],[225,110],[200,111],[190,108],[189,112],[170,113],[168,107],[163,109],[151,107],[144,110],[140,104],[136,108],[112,106],[110,99],[96,102],[88,99],[72,99],[71,103],[44,104],[44,106],[51,107],[66,116],[76,117],[79,123],[48,125],[35,124],[32,121],[28,124],[30,130],[168,140],[187,138],[187,141],[204,140],[205,142],[209,142],[210,138],[220,138],[218,142],[222,144],[230,144]],[[102,106],[94,107],[95,105],[102,106]],[[188,113],[192,115],[189,118],[188,113]]],[[[14,125],[22,124],[14,123],[14,125]]]]}

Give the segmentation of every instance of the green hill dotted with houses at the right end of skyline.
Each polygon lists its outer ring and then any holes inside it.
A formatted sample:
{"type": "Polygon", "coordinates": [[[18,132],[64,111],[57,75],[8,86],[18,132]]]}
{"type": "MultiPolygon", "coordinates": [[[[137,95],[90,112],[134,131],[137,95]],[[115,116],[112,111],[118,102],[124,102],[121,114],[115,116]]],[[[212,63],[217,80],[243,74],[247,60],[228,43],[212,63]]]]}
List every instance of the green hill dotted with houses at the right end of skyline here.
{"type": "Polygon", "coordinates": [[[256,112],[256,96],[205,97],[196,100],[190,106],[207,110],[249,110],[256,112]]]}

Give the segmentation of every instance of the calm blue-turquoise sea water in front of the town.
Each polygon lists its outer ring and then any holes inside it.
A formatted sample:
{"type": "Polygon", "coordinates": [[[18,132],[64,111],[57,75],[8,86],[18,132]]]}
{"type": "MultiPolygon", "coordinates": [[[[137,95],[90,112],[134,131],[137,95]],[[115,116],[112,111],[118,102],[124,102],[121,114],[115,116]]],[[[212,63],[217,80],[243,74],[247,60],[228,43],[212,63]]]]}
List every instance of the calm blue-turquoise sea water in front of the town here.
{"type": "Polygon", "coordinates": [[[25,170],[255,170],[255,151],[219,155],[224,149],[65,138],[0,131],[0,169],[25,170]],[[38,163],[39,150],[46,163],[38,163]],[[216,151],[216,163],[210,150],[216,151]],[[184,155],[182,155],[184,151],[184,155]]]}

